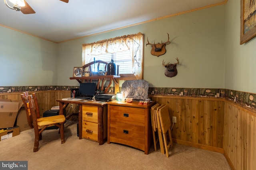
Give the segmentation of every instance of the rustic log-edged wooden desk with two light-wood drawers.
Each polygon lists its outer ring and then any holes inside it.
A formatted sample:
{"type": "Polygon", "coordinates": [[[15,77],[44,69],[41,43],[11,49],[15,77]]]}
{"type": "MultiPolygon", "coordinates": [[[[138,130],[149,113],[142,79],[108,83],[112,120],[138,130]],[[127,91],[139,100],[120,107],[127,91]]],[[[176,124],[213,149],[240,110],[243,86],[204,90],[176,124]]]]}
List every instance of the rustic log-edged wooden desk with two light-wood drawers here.
{"type": "MultiPolygon", "coordinates": [[[[79,139],[96,141],[99,145],[107,139],[107,103],[56,100],[60,104],[59,114],[66,112],[68,104],[78,104],[78,135],[79,139]],[[90,126],[92,129],[88,129],[90,126]],[[96,130],[95,130],[96,129],[96,130]]],[[[70,117],[70,115],[67,115],[70,117]]]]}

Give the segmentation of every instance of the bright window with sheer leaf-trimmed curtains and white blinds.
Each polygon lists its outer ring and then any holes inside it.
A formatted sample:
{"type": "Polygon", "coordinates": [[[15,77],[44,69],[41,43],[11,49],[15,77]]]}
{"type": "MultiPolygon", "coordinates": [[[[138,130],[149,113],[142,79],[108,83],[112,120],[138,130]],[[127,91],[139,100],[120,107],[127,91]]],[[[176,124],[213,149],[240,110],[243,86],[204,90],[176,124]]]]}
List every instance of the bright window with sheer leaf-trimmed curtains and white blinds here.
{"type": "MultiPolygon", "coordinates": [[[[94,60],[109,63],[111,59],[119,65],[120,80],[143,79],[143,34],[124,35],[83,44],[83,65],[94,60]]],[[[92,70],[94,70],[93,67],[92,70]]],[[[103,65],[100,70],[104,70],[103,65]]]]}

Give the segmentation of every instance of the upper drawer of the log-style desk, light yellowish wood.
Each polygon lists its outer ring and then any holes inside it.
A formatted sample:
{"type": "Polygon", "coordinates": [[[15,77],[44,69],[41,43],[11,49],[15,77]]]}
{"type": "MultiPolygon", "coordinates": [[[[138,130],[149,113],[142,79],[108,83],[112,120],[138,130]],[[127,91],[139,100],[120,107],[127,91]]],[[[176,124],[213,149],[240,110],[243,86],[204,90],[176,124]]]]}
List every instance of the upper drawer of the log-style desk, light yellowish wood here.
{"type": "Polygon", "coordinates": [[[83,105],[82,113],[83,121],[98,123],[98,106],[83,105]]]}

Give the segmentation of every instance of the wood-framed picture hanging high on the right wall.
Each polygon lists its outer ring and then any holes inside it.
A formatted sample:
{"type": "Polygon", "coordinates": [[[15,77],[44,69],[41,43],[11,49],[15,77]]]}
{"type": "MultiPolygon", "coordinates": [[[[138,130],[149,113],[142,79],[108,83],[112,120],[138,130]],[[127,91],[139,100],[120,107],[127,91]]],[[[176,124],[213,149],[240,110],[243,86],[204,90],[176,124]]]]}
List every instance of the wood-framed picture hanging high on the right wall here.
{"type": "Polygon", "coordinates": [[[256,36],[255,9],[254,0],[240,0],[240,44],[256,36]]]}

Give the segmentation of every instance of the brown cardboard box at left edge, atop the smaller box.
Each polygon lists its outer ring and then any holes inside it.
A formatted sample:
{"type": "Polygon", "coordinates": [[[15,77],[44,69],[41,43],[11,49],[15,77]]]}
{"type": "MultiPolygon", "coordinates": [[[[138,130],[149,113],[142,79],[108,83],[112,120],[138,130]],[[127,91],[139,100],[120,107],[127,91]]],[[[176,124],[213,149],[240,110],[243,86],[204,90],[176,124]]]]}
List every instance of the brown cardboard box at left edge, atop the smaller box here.
{"type": "Polygon", "coordinates": [[[10,100],[0,100],[0,129],[14,127],[21,106],[22,101],[10,102],[10,100]]]}

